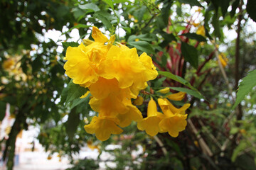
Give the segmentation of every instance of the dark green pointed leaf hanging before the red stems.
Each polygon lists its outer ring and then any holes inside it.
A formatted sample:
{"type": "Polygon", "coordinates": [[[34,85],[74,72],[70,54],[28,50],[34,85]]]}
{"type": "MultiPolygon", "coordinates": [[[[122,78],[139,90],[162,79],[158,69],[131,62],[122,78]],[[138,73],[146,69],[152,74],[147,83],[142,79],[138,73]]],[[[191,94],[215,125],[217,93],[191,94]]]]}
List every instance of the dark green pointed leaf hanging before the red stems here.
{"type": "Polygon", "coordinates": [[[181,42],[181,54],[187,62],[197,69],[198,54],[195,47],[188,45],[186,42],[181,42]]]}

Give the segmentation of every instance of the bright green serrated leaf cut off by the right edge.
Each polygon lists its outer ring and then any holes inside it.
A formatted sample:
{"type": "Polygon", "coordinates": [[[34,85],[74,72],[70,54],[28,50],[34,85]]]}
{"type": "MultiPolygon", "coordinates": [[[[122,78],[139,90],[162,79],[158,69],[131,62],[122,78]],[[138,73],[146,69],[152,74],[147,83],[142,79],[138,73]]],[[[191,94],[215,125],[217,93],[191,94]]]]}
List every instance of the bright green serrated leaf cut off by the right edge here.
{"type": "Polygon", "coordinates": [[[256,86],[256,69],[252,72],[249,72],[246,77],[242,79],[238,86],[238,93],[235,100],[235,104],[232,109],[234,109],[238,104],[242,101],[243,98],[245,98],[245,95],[247,95],[253,87],[256,86]]]}

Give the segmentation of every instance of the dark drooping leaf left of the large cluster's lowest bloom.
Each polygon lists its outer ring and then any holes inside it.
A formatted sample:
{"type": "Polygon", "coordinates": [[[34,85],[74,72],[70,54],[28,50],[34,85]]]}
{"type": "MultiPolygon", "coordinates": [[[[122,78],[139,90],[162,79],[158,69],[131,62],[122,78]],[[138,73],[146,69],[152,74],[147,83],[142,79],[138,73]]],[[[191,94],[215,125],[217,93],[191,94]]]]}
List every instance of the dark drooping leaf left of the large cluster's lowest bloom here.
{"type": "Polygon", "coordinates": [[[80,114],[76,113],[75,109],[72,109],[68,114],[68,121],[65,123],[65,130],[70,140],[73,139],[75,132],[80,123],[80,114]]]}

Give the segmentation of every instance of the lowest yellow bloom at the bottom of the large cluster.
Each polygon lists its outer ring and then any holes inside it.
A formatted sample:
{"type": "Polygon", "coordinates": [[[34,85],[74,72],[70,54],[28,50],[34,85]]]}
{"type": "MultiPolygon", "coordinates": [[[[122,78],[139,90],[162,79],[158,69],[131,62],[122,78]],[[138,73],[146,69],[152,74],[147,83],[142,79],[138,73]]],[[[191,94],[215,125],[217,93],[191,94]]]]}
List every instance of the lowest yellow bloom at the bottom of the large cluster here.
{"type": "Polygon", "coordinates": [[[95,134],[98,140],[105,141],[110,138],[111,134],[118,135],[123,132],[117,126],[119,120],[114,117],[93,117],[89,125],[85,125],[85,131],[90,134],[95,134]]]}

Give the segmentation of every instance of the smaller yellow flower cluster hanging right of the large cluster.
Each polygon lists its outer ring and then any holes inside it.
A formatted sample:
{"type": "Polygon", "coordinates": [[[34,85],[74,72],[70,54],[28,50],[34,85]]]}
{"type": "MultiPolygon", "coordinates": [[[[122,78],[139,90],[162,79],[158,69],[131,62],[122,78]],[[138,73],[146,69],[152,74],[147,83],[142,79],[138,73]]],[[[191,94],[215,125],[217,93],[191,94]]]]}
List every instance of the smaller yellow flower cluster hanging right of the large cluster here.
{"type": "MultiPolygon", "coordinates": [[[[169,98],[181,101],[184,96],[185,93],[178,92],[177,94],[171,94],[169,98]]],[[[137,123],[137,128],[145,130],[151,136],[157,135],[159,132],[168,132],[172,137],[177,137],[178,132],[186,128],[187,115],[185,111],[190,104],[186,103],[181,108],[176,108],[167,98],[159,98],[158,103],[164,114],[157,111],[156,102],[151,98],[147,109],[147,117],[137,123]]]]}

